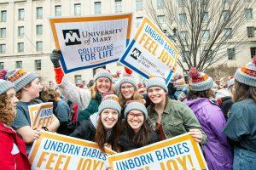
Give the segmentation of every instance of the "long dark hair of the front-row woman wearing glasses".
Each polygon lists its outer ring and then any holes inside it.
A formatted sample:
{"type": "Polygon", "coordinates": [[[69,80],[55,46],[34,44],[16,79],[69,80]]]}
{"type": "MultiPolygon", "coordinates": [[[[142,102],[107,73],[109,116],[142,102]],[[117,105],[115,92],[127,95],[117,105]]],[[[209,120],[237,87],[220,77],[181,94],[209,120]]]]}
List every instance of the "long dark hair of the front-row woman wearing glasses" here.
{"type": "Polygon", "coordinates": [[[149,144],[150,134],[153,133],[153,129],[149,127],[148,122],[144,116],[144,122],[142,127],[137,133],[135,133],[134,130],[128,124],[128,115],[127,115],[125,118],[123,132],[128,134],[128,137],[131,139],[133,144],[144,146],[149,144]]]}

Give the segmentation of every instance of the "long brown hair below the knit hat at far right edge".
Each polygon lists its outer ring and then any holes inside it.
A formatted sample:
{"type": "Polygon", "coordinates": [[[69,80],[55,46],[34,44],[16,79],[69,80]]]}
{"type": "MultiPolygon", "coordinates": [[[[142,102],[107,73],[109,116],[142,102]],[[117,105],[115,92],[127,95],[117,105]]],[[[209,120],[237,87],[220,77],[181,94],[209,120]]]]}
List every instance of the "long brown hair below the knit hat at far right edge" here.
{"type": "Polygon", "coordinates": [[[244,99],[253,99],[256,103],[256,88],[235,80],[235,91],[232,99],[234,102],[244,99]]]}

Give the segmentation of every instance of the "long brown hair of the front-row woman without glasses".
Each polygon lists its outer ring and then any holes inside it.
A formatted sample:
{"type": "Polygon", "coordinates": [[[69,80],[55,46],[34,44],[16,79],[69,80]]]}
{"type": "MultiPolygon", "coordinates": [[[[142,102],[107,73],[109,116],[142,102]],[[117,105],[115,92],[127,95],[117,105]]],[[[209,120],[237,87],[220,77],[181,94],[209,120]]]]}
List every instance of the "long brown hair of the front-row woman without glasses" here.
{"type": "Polygon", "coordinates": [[[121,128],[121,122],[118,119],[118,122],[112,127],[111,134],[109,138],[107,137],[107,132],[104,129],[103,123],[102,123],[102,114],[100,114],[99,119],[97,123],[97,129],[96,129],[96,136],[95,136],[95,142],[99,145],[100,150],[102,152],[105,152],[104,144],[108,143],[111,144],[112,150],[115,150],[119,152],[119,137],[120,137],[120,128],[121,128]],[[108,139],[107,139],[108,138],[108,139]]]}

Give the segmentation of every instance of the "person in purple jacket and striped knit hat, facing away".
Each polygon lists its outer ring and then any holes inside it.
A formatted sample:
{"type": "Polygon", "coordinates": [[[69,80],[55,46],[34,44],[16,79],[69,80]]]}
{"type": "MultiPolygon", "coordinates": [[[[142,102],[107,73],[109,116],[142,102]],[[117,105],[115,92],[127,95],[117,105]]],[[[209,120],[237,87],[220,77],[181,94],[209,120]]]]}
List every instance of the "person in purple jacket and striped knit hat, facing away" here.
{"type": "Polygon", "coordinates": [[[207,144],[202,147],[207,165],[213,170],[232,169],[232,152],[226,136],[222,133],[226,120],[219,106],[209,99],[213,85],[212,77],[194,68],[190,69],[189,77],[189,95],[183,102],[194,111],[201,127],[207,133],[207,144]]]}

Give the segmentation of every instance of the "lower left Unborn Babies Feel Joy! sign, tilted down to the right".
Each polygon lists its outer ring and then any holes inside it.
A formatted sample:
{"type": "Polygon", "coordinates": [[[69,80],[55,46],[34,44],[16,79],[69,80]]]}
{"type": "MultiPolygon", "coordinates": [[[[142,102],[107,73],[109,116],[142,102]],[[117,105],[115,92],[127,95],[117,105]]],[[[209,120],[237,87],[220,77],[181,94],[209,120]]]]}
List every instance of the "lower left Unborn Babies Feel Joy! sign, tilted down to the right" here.
{"type": "Polygon", "coordinates": [[[32,169],[104,169],[107,155],[94,142],[75,139],[57,133],[44,132],[32,145],[28,156],[32,169]]]}

